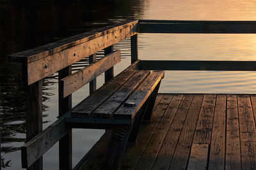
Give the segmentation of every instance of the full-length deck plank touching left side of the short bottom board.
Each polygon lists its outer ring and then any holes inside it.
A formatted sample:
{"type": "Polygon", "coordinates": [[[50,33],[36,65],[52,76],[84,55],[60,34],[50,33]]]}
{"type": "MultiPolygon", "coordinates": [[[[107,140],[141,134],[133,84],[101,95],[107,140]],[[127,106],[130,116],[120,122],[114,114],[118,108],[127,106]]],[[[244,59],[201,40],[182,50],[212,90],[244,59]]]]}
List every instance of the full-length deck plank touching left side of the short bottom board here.
{"type": "Polygon", "coordinates": [[[186,169],[203,97],[202,94],[193,96],[169,169],[186,169]]]}

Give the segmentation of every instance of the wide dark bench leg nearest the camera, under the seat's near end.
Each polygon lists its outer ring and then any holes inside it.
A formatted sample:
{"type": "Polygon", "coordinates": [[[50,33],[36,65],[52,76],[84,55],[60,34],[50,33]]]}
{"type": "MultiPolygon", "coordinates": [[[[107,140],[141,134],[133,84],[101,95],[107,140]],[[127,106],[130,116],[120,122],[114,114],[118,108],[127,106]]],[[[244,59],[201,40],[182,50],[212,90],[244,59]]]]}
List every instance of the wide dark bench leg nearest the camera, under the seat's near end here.
{"type": "Polygon", "coordinates": [[[104,159],[104,169],[117,169],[120,157],[127,145],[131,127],[132,125],[120,125],[113,131],[104,159]]]}

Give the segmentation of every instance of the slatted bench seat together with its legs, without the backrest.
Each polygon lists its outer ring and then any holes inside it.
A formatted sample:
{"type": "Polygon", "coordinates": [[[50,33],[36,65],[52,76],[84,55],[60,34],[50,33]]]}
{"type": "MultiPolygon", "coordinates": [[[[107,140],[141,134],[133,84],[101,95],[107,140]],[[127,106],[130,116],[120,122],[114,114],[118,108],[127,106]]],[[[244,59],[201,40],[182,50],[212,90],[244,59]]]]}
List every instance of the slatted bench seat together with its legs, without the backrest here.
{"type": "Polygon", "coordinates": [[[136,144],[141,122],[150,121],[164,76],[164,71],[137,70],[139,62],[77,104],[71,117],[65,118],[72,128],[114,130],[105,157],[105,165],[109,167],[118,165],[127,144],[136,144]]]}

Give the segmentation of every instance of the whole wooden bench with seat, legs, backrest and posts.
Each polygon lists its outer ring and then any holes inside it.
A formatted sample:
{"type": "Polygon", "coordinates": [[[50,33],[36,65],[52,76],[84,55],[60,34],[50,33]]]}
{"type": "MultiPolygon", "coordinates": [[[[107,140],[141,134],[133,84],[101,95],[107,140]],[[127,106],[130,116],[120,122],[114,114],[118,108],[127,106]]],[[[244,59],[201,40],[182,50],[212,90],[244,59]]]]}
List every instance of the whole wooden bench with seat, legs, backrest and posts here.
{"type": "Polygon", "coordinates": [[[22,63],[27,87],[27,143],[21,147],[22,167],[42,169],[42,156],[59,141],[60,169],[72,169],[72,128],[111,129],[105,165],[118,166],[127,144],[134,145],[141,122],[150,115],[164,71],[140,70],[138,20],[121,22],[49,45],[16,53],[9,61],[22,63]],[[113,45],[131,37],[131,66],[113,76],[121,61],[113,45]],[[96,53],[104,57],[96,60],[96,53]],[[89,65],[72,73],[72,64],[89,58],[89,65]],[[42,131],[42,81],[58,71],[59,117],[42,131]],[[96,90],[96,78],[105,84],[96,90]],[[72,108],[72,93],[90,83],[90,96],[72,108]]]}

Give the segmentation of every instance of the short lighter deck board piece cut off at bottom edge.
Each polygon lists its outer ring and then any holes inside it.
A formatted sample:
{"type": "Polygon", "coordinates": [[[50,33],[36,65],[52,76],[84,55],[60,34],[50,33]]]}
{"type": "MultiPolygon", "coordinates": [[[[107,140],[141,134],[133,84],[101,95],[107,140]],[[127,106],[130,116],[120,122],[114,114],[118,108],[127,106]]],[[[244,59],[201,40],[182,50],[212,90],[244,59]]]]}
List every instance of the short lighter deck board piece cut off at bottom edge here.
{"type": "Polygon", "coordinates": [[[207,169],[209,144],[192,144],[187,170],[207,169]]]}

